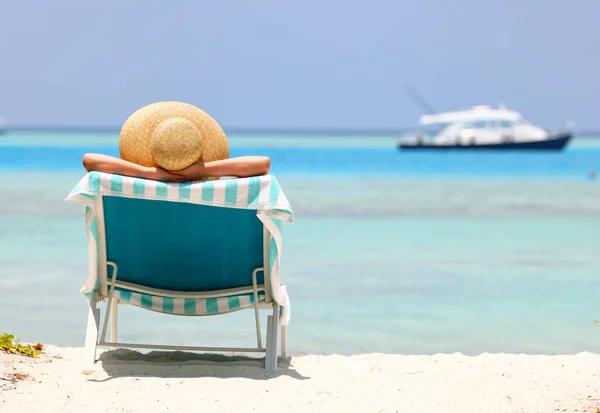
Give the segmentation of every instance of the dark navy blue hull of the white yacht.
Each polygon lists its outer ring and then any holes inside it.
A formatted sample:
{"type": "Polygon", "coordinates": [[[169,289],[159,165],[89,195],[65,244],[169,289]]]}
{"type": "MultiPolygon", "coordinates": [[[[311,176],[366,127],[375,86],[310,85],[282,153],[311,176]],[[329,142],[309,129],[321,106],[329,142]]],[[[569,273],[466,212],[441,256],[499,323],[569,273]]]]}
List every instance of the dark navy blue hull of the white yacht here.
{"type": "Polygon", "coordinates": [[[398,149],[402,150],[468,150],[468,151],[482,151],[482,150],[494,150],[494,151],[506,151],[506,150],[539,150],[539,151],[561,151],[563,150],[571,138],[573,137],[570,133],[561,133],[558,135],[551,136],[548,139],[542,141],[528,141],[528,142],[505,142],[505,143],[494,143],[494,144],[473,144],[473,145],[434,145],[427,143],[399,143],[398,149]]]}

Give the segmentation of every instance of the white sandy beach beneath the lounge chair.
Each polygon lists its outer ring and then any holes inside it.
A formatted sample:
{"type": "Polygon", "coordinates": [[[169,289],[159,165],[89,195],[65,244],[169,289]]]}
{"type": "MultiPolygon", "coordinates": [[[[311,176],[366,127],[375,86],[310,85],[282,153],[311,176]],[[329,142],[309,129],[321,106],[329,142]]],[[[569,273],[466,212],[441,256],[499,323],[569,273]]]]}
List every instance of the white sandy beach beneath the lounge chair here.
{"type": "Polygon", "coordinates": [[[268,380],[262,360],[82,349],[0,354],[0,412],[596,412],[600,356],[459,354],[294,357],[268,380]],[[60,358],[56,358],[60,357],[60,358]],[[149,361],[152,360],[152,361],[149,361]],[[13,373],[24,380],[10,381],[13,373]]]}

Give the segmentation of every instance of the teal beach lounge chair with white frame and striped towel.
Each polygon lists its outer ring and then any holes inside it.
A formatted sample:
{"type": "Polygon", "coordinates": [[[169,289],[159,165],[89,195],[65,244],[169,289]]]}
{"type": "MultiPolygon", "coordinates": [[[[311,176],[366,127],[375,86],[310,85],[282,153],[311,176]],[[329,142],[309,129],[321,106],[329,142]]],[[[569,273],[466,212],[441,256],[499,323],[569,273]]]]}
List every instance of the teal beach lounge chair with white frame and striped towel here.
{"type": "Polygon", "coordinates": [[[67,200],[85,206],[89,300],[83,371],[93,372],[96,347],[265,353],[277,369],[278,330],[286,356],[290,301],[279,281],[281,224],[290,204],[272,175],[167,184],[91,172],[67,200]],[[100,331],[98,303],[107,301],[100,331]],[[120,343],[119,304],[179,316],[253,309],[257,346],[218,348],[120,343]],[[260,309],[267,317],[266,344],[260,309]],[[106,330],[111,321],[110,341],[106,330]]]}

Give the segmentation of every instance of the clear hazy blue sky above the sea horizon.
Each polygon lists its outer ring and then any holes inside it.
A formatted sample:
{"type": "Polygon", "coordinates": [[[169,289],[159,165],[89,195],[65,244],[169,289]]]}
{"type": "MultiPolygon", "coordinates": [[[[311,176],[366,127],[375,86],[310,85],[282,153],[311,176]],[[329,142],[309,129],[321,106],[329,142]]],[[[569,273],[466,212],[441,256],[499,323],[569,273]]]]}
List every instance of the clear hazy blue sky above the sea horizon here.
{"type": "Polygon", "coordinates": [[[178,100],[236,130],[395,130],[503,102],[600,129],[598,0],[32,0],[2,5],[0,117],[120,128],[178,100]]]}

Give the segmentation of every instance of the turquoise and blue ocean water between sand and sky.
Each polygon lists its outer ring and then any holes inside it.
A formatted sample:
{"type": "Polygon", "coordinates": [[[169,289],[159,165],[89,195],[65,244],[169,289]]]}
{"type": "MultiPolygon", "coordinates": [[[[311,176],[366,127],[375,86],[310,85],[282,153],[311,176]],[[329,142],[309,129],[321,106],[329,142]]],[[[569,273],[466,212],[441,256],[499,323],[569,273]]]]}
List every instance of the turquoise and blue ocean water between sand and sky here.
{"type": "MultiPolygon", "coordinates": [[[[600,139],[562,153],[397,151],[393,136],[234,135],[296,215],[291,353],[600,352],[600,139]]],[[[115,133],[0,136],[0,331],[82,346],[83,210],[64,198],[115,133]]],[[[120,340],[244,346],[253,314],[124,307],[120,340]]],[[[264,330],[264,320],[263,320],[264,330]]]]}

